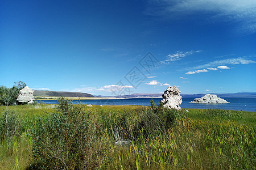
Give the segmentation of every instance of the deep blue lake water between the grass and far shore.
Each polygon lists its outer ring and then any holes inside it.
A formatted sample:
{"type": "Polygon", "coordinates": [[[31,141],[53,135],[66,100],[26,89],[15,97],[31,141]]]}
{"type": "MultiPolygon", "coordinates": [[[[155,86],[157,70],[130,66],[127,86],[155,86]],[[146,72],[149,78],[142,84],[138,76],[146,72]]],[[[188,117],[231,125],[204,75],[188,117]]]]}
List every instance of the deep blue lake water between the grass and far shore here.
{"type": "MultiPolygon", "coordinates": [[[[92,104],[92,105],[150,105],[150,98],[136,99],[102,99],[102,100],[73,100],[73,103],[92,104]]],[[[160,98],[154,98],[155,104],[160,103],[160,98]]],[[[235,111],[256,112],[256,100],[254,98],[225,98],[230,103],[226,104],[197,104],[189,103],[193,98],[183,98],[181,108],[196,109],[226,109],[235,111]]],[[[40,102],[40,100],[39,100],[40,102]]],[[[42,100],[42,103],[56,104],[57,100],[42,100]]]]}

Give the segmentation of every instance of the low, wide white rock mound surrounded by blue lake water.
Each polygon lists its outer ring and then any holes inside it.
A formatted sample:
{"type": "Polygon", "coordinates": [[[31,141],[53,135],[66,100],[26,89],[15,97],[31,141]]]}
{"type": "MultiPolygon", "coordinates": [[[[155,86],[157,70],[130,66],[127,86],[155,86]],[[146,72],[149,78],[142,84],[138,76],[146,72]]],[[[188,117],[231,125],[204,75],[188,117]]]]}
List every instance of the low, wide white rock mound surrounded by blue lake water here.
{"type": "Polygon", "coordinates": [[[216,95],[210,95],[207,94],[201,98],[196,98],[193,101],[189,102],[189,103],[229,103],[228,101],[226,101],[225,99],[221,99],[220,97],[217,97],[216,95]]]}

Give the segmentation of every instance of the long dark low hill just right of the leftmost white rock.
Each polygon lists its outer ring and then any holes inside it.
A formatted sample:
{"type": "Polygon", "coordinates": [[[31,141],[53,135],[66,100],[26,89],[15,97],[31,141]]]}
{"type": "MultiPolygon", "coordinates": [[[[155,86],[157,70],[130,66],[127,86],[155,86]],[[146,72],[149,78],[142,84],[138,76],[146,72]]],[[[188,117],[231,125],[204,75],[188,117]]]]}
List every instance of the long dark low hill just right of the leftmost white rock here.
{"type": "Polygon", "coordinates": [[[91,94],[81,93],[81,92],[67,92],[67,91],[44,91],[35,90],[34,96],[63,96],[63,97],[94,97],[91,94]]]}

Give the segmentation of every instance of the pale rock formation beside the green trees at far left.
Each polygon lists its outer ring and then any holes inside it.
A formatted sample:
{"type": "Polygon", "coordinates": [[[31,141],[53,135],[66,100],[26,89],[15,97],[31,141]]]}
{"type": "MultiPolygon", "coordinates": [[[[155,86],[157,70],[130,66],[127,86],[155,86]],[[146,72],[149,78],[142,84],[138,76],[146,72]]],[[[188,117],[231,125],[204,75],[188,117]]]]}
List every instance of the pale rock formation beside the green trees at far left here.
{"type": "Polygon", "coordinates": [[[17,99],[18,103],[32,104],[34,103],[34,100],[34,90],[31,90],[31,88],[28,86],[19,91],[19,96],[17,99]]]}

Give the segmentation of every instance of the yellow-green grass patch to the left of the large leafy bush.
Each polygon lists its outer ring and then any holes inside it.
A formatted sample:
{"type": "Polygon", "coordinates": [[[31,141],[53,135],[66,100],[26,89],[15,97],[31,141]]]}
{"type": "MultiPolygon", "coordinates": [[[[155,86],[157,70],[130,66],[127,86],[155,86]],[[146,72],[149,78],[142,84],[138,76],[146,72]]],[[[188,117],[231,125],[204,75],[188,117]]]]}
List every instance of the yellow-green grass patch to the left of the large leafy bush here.
{"type": "Polygon", "coordinates": [[[32,129],[38,117],[47,117],[53,111],[49,105],[13,105],[0,107],[0,169],[26,169],[30,167],[32,129]],[[7,116],[7,117],[6,117],[7,116]],[[7,129],[11,132],[9,137],[7,129]]]}

